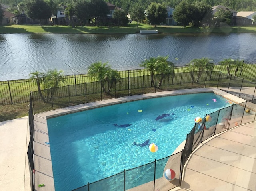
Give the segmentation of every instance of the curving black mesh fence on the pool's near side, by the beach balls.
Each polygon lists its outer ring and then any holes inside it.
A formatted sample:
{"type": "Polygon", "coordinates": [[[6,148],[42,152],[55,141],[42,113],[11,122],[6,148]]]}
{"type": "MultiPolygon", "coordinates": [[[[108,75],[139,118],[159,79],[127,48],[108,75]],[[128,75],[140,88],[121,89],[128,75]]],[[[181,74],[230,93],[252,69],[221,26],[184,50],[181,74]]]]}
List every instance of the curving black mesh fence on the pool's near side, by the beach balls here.
{"type": "Polygon", "coordinates": [[[181,186],[184,166],[190,154],[208,138],[241,124],[255,121],[256,105],[253,102],[256,100],[233,104],[211,114],[206,114],[187,134],[186,143],[181,152],[134,169],[124,170],[94,183],[85,183],[84,186],[73,191],[126,191],[137,186],[138,189],[136,190],[168,191],[181,186]],[[254,110],[248,112],[248,108],[254,108],[254,110]],[[165,177],[165,172],[169,169],[172,169],[176,174],[175,179],[170,182],[165,177]]]}

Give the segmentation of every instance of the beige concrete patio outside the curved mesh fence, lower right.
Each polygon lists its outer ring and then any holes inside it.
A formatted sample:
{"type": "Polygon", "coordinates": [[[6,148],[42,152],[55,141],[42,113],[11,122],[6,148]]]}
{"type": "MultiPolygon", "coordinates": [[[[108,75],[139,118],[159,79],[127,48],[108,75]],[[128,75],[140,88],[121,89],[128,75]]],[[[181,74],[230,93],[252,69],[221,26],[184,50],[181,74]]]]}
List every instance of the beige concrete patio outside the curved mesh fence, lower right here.
{"type": "Polygon", "coordinates": [[[181,188],[172,191],[256,191],[256,122],[206,140],[184,168],[181,188]]]}

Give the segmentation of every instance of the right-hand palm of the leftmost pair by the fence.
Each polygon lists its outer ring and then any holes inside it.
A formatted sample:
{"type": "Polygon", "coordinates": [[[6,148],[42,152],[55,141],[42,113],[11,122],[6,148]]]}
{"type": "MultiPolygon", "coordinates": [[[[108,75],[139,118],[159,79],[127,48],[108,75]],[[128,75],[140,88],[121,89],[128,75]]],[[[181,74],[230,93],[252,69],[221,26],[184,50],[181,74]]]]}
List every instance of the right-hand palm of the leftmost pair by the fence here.
{"type": "Polygon", "coordinates": [[[63,75],[63,71],[58,71],[57,69],[49,69],[44,75],[44,94],[46,96],[46,101],[50,101],[52,96],[57,90],[57,87],[61,83],[66,83],[66,77],[63,75]],[[51,94],[51,96],[50,96],[51,94]]]}

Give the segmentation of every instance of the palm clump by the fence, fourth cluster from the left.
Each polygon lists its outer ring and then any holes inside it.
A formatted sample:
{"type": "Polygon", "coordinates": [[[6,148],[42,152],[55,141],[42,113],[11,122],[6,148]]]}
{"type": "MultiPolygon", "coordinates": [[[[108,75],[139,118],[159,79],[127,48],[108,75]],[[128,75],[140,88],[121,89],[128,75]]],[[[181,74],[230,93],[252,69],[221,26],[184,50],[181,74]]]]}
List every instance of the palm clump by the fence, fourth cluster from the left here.
{"type": "Polygon", "coordinates": [[[201,59],[193,59],[187,65],[187,71],[190,72],[190,76],[192,77],[192,81],[195,83],[199,82],[199,79],[204,71],[211,71],[213,68],[212,59],[209,58],[201,58],[201,59]],[[196,81],[194,80],[194,72],[197,72],[196,81]]]}

